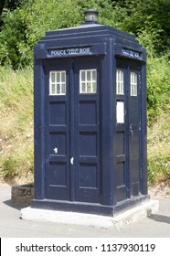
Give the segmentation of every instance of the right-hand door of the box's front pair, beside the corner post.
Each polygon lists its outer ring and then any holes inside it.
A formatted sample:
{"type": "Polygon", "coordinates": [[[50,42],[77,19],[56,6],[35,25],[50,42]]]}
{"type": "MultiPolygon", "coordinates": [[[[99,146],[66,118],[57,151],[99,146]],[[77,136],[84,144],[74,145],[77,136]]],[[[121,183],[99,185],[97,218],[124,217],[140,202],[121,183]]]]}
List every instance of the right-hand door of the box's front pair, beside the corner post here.
{"type": "Polygon", "coordinates": [[[100,59],[75,59],[75,200],[100,203],[100,59]]]}

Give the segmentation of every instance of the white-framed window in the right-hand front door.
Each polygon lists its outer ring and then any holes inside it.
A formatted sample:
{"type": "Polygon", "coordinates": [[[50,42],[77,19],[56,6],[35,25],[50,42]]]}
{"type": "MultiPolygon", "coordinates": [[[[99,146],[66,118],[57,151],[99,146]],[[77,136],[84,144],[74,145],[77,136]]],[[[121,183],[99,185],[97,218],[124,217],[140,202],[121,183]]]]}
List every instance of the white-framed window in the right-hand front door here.
{"type": "Polygon", "coordinates": [[[97,92],[97,69],[80,70],[80,93],[97,92]]]}

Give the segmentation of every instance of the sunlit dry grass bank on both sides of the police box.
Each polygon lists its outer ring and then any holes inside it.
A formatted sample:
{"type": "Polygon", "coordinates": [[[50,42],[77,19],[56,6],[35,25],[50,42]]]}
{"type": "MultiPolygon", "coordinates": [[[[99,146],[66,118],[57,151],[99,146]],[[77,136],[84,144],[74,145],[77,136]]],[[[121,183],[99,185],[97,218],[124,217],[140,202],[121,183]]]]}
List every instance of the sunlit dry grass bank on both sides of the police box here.
{"type": "MultiPolygon", "coordinates": [[[[0,174],[33,180],[33,70],[0,67],[0,174]]],[[[148,180],[170,184],[170,114],[148,129],[148,180]]]]}

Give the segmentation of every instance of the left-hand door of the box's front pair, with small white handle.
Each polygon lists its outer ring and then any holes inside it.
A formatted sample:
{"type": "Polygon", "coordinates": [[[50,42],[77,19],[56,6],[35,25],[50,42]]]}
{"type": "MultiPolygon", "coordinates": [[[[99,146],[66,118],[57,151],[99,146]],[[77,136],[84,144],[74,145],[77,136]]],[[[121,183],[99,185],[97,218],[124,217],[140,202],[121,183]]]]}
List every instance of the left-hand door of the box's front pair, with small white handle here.
{"type": "Polygon", "coordinates": [[[69,200],[69,72],[66,59],[45,64],[46,198],[69,200]]]}

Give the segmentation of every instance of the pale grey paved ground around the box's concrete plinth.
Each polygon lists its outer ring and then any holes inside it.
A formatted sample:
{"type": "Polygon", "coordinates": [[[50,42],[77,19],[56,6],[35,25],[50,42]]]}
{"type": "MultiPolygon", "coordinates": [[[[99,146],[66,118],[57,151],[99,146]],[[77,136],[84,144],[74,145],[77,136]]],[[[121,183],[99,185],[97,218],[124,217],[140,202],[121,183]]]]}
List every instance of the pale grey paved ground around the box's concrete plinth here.
{"type": "MultiPolygon", "coordinates": [[[[20,208],[12,205],[11,187],[0,186],[0,237],[4,238],[65,238],[65,237],[108,237],[108,238],[170,238],[170,199],[159,199],[157,214],[121,230],[98,229],[76,225],[61,225],[52,222],[22,220],[20,208]]],[[[158,199],[158,198],[156,198],[158,199]]]]}

